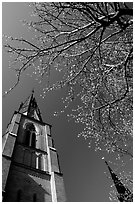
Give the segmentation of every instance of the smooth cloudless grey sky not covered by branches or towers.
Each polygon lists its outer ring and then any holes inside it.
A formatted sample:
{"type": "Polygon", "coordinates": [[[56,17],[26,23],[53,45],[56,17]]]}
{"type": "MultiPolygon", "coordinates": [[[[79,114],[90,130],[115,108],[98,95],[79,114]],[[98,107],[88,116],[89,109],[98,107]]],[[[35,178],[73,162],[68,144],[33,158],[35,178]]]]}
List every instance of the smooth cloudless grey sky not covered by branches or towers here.
{"type": "MultiPolygon", "coordinates": [[[[30,37],[30,33],[20,20],[28,19],[31,10],[27,3],[2,4],[2,32],[14,37],[30,37]]],[[[15,73],[8,69],[8,55],[3,51],[3,92],[15,82],[15,73]]],[[[60,158],[64,174],[64,183],[69,202],[107,202],[111,180],[107,178],[105,163],[101,159],[104,154],[88,148],[88,141],[77,138],[82,127],[68,122],[66,115],[54,117],[53,113],[60,109],[62,91],[49,93],[42,99],[43,85],[33,78],[23,75],[21,82],[9,95],[3,98],[3,131],[5,131],[13,112],[19,107],[35,88],[35,96],[39,104],[43,121],[52,124],[52,136],[60,158]]]]}

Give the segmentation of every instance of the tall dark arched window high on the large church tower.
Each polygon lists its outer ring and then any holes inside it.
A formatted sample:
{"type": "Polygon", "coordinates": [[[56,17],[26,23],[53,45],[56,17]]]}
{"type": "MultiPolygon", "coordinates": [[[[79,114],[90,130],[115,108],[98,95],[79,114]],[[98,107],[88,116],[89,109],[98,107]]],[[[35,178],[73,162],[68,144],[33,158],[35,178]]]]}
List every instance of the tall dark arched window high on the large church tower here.
{"type": "Polygon", "coordinates": [[[33,123],[26,124],[24,144],[33,148],[36,147],[36,130],[33,123]]]}

